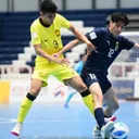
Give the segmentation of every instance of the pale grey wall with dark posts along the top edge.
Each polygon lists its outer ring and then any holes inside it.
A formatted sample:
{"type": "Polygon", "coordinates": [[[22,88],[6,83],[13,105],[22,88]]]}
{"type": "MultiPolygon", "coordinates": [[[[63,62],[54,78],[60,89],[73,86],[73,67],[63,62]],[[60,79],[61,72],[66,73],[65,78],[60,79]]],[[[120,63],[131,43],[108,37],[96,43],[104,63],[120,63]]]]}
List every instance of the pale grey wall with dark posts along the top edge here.
{"type": "MultiPolygon", "coordinates": [[[[0,12],[38,11],[41,0],[0,0],[0,12]]],[[[53,0],[59,10],[139,8],[139,0],[53,0]]]]}

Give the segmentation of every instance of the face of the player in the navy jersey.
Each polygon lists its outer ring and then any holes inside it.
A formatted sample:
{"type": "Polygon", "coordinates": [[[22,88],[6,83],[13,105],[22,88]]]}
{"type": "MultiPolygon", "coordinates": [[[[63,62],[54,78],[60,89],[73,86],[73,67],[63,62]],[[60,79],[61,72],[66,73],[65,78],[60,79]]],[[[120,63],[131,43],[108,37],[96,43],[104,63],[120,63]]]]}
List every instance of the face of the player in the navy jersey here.
{"type": "Polygon", "coordinates": [[[113,23],[111,21],[109,28],[111,34],[116,37],[125,29],[125,24],[123,22],[113,23]]]}

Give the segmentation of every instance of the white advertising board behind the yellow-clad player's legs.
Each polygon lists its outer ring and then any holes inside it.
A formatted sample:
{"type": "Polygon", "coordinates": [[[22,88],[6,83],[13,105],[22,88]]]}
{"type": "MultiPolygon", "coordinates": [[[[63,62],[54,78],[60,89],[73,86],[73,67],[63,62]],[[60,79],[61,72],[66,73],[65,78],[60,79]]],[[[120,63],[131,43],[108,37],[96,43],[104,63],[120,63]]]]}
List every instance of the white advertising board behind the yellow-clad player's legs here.
{"type": "MultiPolygon", "coordinates": [[[[48,87],[41,89],[39,96],[35,100],[36,102],[56,103],[65,102],[68,93],[75,91],[64,86],[54,77],[50,76],[48,79],[48,87]],[[61,92],[60,92],[61,91],[61,92]],[[60,92],[60,93],[59,93],[60,92]]],[[[29,91],[29,79],[12,79],[10,88],[10,103],[21,102],[22,99],[29,91]]],[[[72,101],[81,101],[81,97],[77,93],[72,101]]]]}

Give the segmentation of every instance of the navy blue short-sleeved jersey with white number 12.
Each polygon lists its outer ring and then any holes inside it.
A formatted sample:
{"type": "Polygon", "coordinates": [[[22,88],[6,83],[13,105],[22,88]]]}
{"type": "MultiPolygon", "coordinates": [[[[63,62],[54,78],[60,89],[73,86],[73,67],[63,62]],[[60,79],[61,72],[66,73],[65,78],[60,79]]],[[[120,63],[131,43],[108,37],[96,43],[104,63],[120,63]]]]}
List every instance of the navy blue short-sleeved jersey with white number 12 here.
{"type": "Polygon", "coordinates": [[[84,70],[91,73],[108,73],[108,68],[123,49],[129,50],[135,42],[123,36],[113,37],[108,28],[96,28],[88,33],[87,38],[97,47],[97,52],[92,51],[88,56],[84,70]]]}

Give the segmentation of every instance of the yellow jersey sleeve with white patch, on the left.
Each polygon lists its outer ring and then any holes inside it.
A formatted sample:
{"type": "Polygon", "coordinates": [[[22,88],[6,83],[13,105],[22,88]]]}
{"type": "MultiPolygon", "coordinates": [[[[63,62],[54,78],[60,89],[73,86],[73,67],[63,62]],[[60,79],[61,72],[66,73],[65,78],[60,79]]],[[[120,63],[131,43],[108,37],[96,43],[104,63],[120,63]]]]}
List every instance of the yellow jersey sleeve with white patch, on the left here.
{"type": "Polygon", "coordinates": [[[41,43],[40,37],[37,34],[37,31],[34,29],[33,26],[30,26],[30,37],[31,37],[31,43],[33,45],[39,45],[39,43],[41,43]]]}

